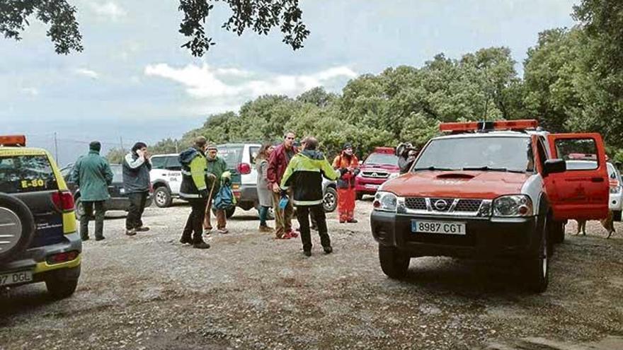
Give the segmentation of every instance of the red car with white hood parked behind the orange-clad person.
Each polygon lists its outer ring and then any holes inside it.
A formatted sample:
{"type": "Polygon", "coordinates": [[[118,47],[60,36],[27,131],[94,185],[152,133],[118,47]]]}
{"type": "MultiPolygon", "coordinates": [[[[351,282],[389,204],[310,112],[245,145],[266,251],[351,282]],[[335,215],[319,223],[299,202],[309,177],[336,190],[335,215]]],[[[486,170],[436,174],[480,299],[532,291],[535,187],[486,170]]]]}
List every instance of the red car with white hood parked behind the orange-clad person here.
{"type": "Polygon", "coordinates": [[[355,177],[357,199],[364,194],[377,193],[377,189],[389,179],[398,177],[398,157],[393,147],[377,147],[360,165],[360,173],[355,177]]]}

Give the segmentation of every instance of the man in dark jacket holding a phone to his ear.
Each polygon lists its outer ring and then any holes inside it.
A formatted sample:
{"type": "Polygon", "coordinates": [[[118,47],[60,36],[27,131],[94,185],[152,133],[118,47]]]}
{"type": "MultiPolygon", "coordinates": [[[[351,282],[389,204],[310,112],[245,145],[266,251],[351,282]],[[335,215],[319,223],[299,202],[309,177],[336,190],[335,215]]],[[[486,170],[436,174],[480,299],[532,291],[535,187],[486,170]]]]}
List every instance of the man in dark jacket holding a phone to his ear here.
{"type": "Polygon", "coordinates": [[[149,231],[149,227],[143,226],[142,221],[149,195],[149,170],[152,170],[149,158],[147,144],[143,142],[137,142],[123,158],[123,189],[130,199],[130,210],[125,219],[126,235],[149,231]]]}

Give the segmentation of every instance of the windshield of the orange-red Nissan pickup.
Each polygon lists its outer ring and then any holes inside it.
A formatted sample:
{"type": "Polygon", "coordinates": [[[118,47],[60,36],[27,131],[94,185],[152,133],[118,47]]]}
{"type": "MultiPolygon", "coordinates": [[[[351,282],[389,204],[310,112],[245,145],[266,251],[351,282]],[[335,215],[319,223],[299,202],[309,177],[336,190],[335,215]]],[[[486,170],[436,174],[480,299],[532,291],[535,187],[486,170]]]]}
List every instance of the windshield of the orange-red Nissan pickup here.
{"type": "Polygon", "coordinates": [[[430,168],[525,172],[532,171],[532,162],[528,137],[462,137],[430,141],[413,170],[430,168]]]}

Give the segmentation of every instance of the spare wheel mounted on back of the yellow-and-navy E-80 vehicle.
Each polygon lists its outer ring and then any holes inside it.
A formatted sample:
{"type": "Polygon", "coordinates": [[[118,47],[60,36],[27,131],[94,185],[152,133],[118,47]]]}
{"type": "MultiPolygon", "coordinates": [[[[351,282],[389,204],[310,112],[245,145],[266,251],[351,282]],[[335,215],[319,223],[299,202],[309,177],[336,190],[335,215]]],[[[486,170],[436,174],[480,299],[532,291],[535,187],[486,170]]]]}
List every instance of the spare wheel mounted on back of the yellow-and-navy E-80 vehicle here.
{"type": "Polygon", "coordinates": [[[20,199],[0,193],[0,264],[23,252],[35,237],[33,213],[20,199]]]}

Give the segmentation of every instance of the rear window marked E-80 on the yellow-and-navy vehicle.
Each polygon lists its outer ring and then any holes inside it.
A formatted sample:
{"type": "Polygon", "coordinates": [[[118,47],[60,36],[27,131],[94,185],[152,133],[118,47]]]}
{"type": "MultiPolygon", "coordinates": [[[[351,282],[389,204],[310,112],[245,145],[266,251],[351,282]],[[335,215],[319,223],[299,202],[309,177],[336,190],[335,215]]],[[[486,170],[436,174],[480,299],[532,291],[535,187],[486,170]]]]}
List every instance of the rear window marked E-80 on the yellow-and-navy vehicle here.
{"type": "Polygon", "coordinates": [[[0,156],[0,192],[52,189],[58,189],[58,184],[47,156],[0,156]]]}

